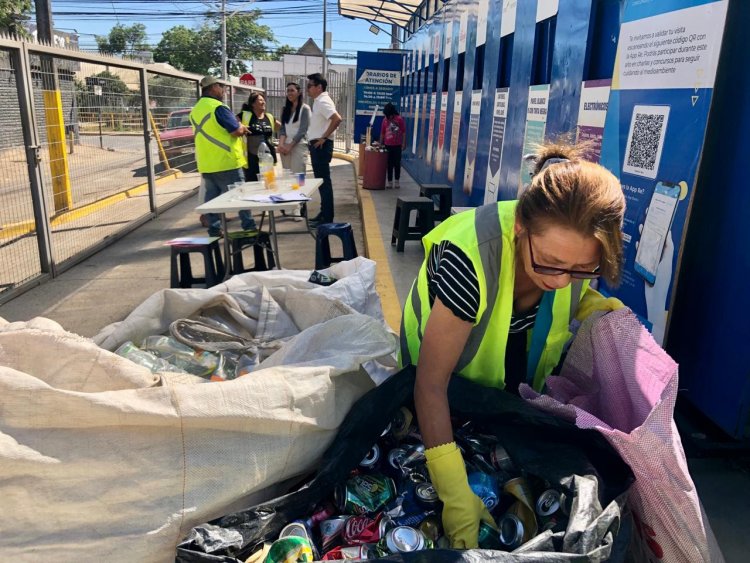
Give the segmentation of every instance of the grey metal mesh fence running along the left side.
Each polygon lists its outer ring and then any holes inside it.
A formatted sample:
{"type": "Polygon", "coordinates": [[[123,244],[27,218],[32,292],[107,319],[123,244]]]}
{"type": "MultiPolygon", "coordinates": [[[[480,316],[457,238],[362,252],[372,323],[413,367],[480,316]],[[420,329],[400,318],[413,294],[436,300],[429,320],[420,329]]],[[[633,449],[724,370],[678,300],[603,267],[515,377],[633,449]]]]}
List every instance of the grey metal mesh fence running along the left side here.
{"type": "Polygon", "coordinates": [[[0,37],[0,303],[195,193],[199,80],[0,37]]]}

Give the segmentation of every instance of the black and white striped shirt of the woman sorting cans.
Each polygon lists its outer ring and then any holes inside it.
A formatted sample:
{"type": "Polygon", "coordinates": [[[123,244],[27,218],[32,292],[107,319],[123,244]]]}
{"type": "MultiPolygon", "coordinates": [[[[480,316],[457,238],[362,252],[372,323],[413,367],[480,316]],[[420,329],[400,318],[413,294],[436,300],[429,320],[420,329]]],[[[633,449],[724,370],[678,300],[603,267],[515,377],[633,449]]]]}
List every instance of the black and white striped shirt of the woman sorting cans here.
{"type": "MultiPolygon", "coordinates": [[[[479,280],[474,265],[463,250],[448,240],[443,240],[430,250],[427,261],[427,288],[430,307],[435,297],[459,319],[476,322],[479,311],[479,280]]],[[[533,328],[539,304],[523,313],[514,314],[510,320],[510,334],[533,328]]]]}

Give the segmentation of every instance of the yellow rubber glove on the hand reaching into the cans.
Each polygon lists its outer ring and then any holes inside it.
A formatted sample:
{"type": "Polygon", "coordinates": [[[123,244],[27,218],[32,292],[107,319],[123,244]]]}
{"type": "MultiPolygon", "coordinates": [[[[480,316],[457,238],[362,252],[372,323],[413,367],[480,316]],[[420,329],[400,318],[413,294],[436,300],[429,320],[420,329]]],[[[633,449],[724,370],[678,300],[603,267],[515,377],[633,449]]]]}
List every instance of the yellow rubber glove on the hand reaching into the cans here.
{"type": "Polygon", "coordinates": [[[454,549],[478,547],[479,522],[497,528],[482,500],[469,487],[466,466],[455,442],[425,450],[432,485],[443,501],[443,528],[454,549]]]}

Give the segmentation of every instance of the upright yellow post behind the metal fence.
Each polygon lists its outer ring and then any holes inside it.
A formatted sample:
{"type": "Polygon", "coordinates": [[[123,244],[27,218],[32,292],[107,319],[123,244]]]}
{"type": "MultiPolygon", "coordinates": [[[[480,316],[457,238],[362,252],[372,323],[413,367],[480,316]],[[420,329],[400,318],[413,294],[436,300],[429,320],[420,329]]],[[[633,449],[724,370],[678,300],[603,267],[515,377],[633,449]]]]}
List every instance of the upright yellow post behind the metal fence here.
{"type": "Polygon", "coordinates": [[[65,152],[65,123],[62,113],[62,96],[59,90],[42,91],[44,118],[47,124],[47,145],[49,146],[49,167],[52,174],[52,195],[55,213],[73,207],[73,193],[70,185],[68,155],[65,152]]]}

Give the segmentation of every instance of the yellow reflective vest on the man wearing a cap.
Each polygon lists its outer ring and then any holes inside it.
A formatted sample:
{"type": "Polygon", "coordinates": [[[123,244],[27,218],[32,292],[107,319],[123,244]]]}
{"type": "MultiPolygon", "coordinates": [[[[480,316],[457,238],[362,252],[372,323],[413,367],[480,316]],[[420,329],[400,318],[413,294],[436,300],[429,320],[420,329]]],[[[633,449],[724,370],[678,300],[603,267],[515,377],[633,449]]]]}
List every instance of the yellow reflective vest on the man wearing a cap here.
{"type": "Polygon", "coordinates": [[[242,139],[224,129],[214,112],[224,105],[210,96],[203,96],[190,112],[190,123],[195,135],[195,160],[198,172],[225,172],[247,164],[242,139]]]}

